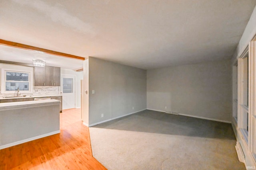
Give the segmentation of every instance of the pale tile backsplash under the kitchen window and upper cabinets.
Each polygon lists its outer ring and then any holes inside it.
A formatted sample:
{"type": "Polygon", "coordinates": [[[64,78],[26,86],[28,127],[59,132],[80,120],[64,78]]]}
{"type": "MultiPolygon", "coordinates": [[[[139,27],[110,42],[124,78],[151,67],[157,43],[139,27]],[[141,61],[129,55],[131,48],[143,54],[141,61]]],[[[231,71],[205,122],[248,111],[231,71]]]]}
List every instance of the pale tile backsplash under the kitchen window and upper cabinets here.
{"type": "MultiPolygon", "coordinates": [[[[1,92],[1,87],[0,87],[1,92]]],[[[12,94],[1,94],[0,98],[6,97],[6,96],[14,96],[17,94],[17,92],[14,92],[12,94]]],[[[27,95],[27,96],[45,96],[45,95],[59,95],[60,94],[60,87],[59,86],[34,86],[33,87],[33,93],[22,93],[21,95],[27,95]]]]}

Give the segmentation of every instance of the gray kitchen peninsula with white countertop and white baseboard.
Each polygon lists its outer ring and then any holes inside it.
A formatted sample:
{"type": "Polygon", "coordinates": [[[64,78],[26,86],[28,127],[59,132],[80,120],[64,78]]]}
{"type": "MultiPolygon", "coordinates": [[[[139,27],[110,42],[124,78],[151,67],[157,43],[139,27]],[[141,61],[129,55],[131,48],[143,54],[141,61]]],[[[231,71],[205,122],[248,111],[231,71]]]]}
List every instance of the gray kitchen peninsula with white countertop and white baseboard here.
{"type": "Polygon", "coordinates": [[[60,133],[60,101],[0,103],[0,149],[60,133]]]}

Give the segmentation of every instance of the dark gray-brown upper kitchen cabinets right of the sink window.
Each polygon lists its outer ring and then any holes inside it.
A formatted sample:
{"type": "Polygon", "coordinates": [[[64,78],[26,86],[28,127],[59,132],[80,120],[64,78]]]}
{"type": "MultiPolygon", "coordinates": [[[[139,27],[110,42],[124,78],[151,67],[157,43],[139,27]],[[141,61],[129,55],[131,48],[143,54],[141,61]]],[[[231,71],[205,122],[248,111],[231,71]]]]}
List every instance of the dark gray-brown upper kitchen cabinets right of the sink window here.
{"type": "Polygon", "coordinates": [[[34,67],[34,86],[60,86],[60,67],[34,67]]]}

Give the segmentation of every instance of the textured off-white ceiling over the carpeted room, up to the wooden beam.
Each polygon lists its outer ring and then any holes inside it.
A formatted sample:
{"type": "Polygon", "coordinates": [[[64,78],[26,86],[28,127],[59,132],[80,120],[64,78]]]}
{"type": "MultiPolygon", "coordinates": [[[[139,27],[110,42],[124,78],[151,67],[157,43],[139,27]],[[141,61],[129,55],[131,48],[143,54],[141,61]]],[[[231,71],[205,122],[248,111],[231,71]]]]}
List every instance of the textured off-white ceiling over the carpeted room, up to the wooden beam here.
{"type": "Polygon", "coordinates": [[[256,0],[2,0],[0,39],[144,69],[230,59],[255,5],[256,0]]]}

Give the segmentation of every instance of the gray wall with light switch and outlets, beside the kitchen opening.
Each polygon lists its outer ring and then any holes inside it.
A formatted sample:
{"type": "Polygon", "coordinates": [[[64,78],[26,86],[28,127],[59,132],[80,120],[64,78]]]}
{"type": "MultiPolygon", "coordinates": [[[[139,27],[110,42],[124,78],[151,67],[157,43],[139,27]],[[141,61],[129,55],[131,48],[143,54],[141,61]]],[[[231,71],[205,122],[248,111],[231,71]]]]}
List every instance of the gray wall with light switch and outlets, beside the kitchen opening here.
{"type": "Polygon", "coordinates": [[[142,109],[146,70],[89,57],[89,125],[142,109]]]}

